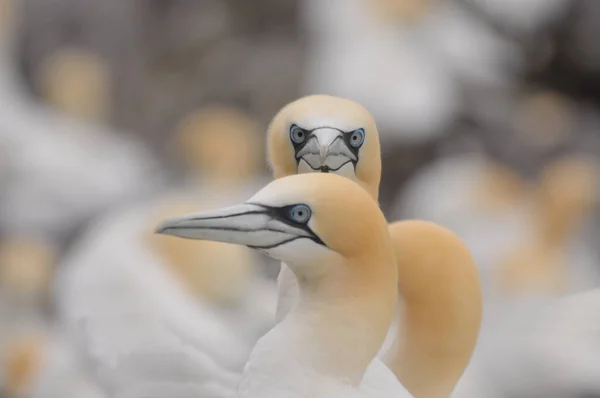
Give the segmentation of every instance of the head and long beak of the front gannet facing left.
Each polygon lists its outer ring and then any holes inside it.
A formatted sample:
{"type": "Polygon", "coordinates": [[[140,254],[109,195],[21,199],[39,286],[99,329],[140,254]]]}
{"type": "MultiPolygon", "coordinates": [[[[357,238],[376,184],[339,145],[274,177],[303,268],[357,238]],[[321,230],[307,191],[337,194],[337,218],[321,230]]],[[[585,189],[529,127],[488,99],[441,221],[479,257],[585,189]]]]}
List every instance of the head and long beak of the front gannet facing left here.
{"type": "Polygon", "coordinates": [[[357,184],[334,174],[274,180],[244,204],[171,218],[156,232],[245,245],[284,261],[299,279],[381,253],[395,269],[377,203],[357,184]]]}

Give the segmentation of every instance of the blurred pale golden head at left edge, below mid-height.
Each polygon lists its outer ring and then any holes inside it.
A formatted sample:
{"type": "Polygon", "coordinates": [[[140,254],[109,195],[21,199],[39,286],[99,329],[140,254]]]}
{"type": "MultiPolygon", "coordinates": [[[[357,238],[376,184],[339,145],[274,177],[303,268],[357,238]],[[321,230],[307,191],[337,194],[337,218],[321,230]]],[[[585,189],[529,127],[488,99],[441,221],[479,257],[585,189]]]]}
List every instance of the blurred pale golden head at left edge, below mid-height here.
{"type": "Polygon", "coordinates": [[[41,299],[56,259],[54,249],[43,242],[9,238],[0,244],[0,283],[13,293],[41,299]]]}

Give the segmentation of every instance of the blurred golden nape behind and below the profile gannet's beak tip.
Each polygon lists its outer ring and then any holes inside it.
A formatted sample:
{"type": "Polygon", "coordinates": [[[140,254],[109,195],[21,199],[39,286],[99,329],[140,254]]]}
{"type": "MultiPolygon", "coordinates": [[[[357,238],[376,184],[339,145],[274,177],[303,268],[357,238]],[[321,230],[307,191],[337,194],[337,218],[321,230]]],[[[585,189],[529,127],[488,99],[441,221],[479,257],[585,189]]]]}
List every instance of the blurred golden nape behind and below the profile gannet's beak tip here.
{"type": "Polygon", "coordinates": [[[165,262],[184,288],[208,302],[227,305],[244,296],[255,271],[249,249],[154,233],[155,226],[165,218],[211,207],[214,206],[191,202],[164,204],[148,223],[147,246],[165,262]]]}

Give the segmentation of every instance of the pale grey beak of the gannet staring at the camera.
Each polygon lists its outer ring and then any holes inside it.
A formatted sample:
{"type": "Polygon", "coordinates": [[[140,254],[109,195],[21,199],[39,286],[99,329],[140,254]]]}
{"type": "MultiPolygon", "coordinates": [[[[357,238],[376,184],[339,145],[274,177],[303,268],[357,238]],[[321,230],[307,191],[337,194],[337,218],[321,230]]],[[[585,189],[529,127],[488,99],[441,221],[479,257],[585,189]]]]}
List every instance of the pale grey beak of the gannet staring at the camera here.
{"type": "Polygon", "coordinates": [[[343,133],[322,127],[313,131],[309,141],[296,153],[314,171],[338,171],[344,165],[357,160],[348,148],[343,133]]]}

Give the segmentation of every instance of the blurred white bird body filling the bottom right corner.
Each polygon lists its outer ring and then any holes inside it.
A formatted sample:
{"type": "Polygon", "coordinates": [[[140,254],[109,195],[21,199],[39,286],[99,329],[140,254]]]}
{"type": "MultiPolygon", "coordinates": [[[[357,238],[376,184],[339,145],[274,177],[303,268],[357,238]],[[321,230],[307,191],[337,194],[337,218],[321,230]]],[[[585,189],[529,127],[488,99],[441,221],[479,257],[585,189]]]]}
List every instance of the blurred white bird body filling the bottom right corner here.
{"type": "Polygon", "coordinates": [[[486,311],[479,344],[453,397],[600,393],[600,289],[519,297],[486,311]]]}

